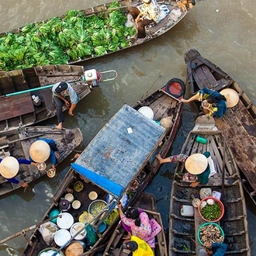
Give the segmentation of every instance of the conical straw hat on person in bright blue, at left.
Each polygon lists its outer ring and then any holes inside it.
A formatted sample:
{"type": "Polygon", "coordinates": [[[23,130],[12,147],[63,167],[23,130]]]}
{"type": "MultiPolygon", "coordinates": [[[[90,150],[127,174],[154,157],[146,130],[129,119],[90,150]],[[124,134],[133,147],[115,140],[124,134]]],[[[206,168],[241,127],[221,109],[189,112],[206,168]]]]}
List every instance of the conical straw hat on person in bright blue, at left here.
{"type": "Polygon", "coordinates": [[[29,148],[29,155],[36,163],[47,161],[50,157],[50,146],[44,140],[36,140],[29,148]]]}

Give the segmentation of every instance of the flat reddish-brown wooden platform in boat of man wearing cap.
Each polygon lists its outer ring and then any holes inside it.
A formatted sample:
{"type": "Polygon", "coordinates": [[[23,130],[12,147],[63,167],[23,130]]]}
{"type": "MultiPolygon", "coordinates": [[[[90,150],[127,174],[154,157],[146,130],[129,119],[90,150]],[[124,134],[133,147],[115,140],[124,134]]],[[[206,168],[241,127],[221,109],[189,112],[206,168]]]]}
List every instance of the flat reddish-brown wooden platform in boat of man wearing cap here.
{"type": "Polygon", "coordinates": [[[0,121],[34,112],[30,93],[23,93],[0,99],[0,121]]]}

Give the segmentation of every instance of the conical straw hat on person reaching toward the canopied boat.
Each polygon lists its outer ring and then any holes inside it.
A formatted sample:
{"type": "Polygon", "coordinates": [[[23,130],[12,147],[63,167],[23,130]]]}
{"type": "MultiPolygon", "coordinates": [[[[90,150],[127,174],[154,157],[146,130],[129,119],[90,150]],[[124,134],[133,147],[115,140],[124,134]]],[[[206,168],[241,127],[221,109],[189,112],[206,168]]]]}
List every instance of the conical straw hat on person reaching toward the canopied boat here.
{"type": "Polygon", "coordinates": [[[199,175],[206,171],[207,165],[207,158],[203,154],[192,154],[185,161],[185,168],[192,175],[199,175]]]}

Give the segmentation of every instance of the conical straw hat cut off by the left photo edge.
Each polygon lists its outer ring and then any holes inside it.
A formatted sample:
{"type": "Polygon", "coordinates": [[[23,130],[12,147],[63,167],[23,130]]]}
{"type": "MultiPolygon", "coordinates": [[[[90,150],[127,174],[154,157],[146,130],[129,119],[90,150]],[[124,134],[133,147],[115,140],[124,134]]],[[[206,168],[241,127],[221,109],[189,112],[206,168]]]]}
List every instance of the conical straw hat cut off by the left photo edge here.
{"type": "Polygon", "coordinates": [[[13,178],[19,171],[19,162],[15,157],[5,157],[0,163],[0,173],[4,178],[13,178]]]}

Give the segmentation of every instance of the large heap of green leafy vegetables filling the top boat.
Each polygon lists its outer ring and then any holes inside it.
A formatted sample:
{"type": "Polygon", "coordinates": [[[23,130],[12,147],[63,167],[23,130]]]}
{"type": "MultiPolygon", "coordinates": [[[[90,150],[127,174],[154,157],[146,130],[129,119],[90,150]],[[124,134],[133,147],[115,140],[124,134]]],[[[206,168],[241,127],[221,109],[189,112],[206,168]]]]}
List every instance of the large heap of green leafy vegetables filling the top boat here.
{"type": "MultiPolygon", "coordinates": [[[[109,9],[121,7],[112,2],[109,9]]],[[[64,18],[30,23],[0,38],[0,69],[11,71],[47,64],[67,64],[115,52],[130,45],[136,31],[126,27],[123,9],[99,16],[71,10],[64,18]]]]}

